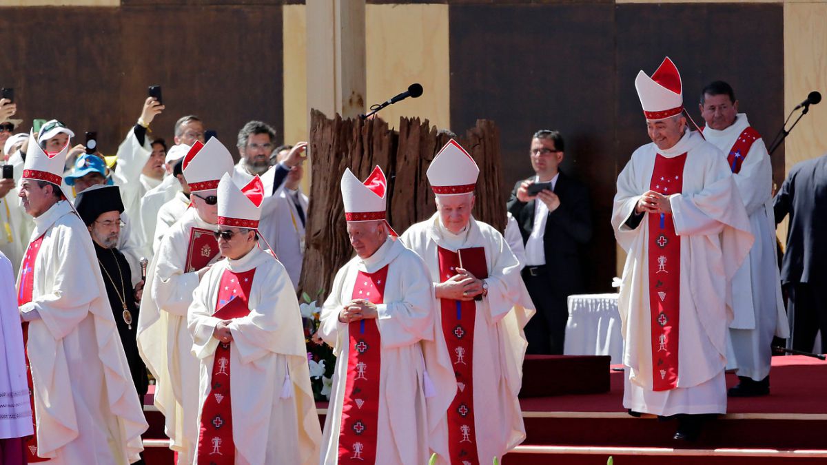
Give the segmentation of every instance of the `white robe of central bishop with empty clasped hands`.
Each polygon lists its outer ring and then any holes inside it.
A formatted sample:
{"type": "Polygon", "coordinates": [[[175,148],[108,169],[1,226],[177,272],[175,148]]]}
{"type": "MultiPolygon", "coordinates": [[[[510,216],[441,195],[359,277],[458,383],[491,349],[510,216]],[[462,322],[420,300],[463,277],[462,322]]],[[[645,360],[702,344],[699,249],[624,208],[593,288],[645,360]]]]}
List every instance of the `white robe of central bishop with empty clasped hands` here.
{"type": "Polygon", "coordinates": [[[437,333],[439,313],[433,307],[428,270],[414,252],[389,237],[372,256],[364,260],[355,256],[342,266],[322,309],[319,334],[339,361],[324,424],[319,461],[323,465],[338,461],[351,351],[349,325],[339,322],[339,313],[353,300],[359,272],[375,273],[385,266],[384,303],[376,305],[375,319],[381,335],[375,463],[428,463],[428,444],[442,433],[439,419],[457,391],[445,340],[437,333]]]}

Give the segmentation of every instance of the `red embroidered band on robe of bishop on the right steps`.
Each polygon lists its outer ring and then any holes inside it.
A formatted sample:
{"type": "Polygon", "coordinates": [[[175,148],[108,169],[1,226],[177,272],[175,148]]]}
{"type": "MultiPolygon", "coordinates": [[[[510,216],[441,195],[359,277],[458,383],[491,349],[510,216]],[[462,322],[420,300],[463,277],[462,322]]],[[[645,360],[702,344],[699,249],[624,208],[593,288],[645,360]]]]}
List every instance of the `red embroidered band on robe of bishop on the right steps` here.
{"type": "MultiPolygon", "coordinates": [[[[686,153],[674,158],[658,154],[649,189],[680,194],[686,153]]],[[[681,238],[672,214],[649,213],[649,311],[652,317],[653,390],[677,386],[678,333],[681,309],[681,238]]]]}

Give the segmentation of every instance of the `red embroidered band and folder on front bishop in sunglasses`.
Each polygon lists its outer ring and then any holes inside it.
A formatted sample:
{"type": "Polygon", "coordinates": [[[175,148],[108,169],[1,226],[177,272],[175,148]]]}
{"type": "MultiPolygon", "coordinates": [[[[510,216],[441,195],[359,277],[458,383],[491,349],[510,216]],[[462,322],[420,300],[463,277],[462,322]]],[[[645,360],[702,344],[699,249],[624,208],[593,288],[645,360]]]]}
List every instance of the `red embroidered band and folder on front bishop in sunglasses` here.
{"type": "MultiPolygon", "coordinates": [[[[225,270],[218,289],[213,314],[218,319],[237,319],[250,314],[247,300],[256,269],[233,273],[225,270]]],[[[198,465],[232,465],[236,463],[236,445],[232,440],[232,402],[230,400],[230,344],[218,343],[213,360],[213,386],[201,407],[198,432],[198,465]]],[[[195,393],[192,393],[193,395],[195,393]]]]}

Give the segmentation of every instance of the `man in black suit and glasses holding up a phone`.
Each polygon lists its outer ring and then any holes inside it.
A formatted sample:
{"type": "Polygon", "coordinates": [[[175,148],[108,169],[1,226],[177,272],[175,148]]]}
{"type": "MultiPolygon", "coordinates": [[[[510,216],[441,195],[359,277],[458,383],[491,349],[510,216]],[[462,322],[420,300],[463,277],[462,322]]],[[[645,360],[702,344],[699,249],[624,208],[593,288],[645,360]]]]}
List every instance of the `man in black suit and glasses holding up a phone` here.
{"type": "Polygon", "coordinates": [[[563,150],[560,132],[535,132],[529,156],[536,175],[519,181],[508,203],[525,244],[523,281],[537,308],[525,327],[532,354],[562,354],[566,299],[584,288],[580,249],[591,239],[589,192],[558,169],[563,150]],[[532,193],[534,183],[547,184],[532,193]]]}

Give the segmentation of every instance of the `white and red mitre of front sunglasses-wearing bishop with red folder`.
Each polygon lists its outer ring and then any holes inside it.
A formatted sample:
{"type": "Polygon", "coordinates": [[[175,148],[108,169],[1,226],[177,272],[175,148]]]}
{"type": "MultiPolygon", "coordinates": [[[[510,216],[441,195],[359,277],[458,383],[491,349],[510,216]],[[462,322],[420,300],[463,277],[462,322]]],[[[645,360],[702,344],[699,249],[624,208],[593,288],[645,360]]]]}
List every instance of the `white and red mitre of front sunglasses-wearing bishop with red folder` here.
{"type": "Polygon", "coordinates": [[[229,173],[224,173],[218,182],[218,224],[257,229],[262,202],[264,184],[261,178],[256,176],[240,188],[229,173]]]}

